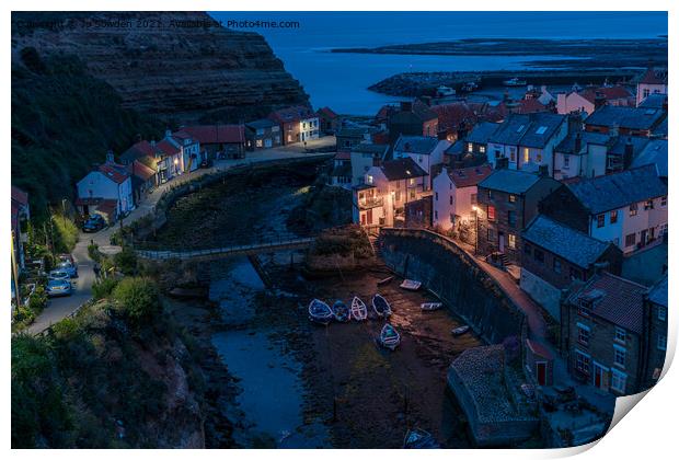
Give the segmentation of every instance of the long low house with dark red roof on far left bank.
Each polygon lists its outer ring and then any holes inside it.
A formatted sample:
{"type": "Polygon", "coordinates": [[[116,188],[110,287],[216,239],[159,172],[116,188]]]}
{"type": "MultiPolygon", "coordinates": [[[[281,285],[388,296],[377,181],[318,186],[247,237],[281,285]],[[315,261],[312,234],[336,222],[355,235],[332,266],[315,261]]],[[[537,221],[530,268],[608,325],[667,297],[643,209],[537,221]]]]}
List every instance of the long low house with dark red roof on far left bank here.
{"type": "Polygon", "coordinates": [[[204,159],[245,158],[245,125],[199,125],[181,129],[207,152],[204,159]]]}

